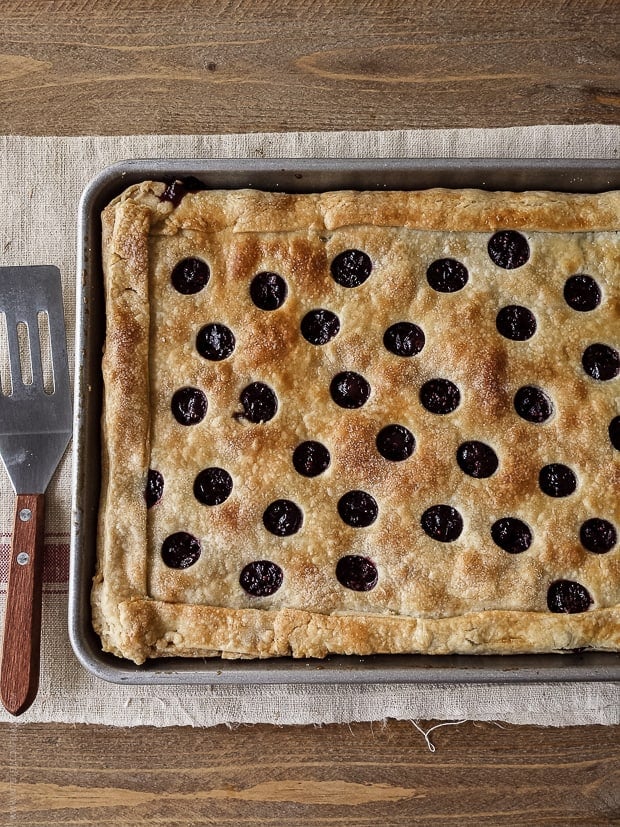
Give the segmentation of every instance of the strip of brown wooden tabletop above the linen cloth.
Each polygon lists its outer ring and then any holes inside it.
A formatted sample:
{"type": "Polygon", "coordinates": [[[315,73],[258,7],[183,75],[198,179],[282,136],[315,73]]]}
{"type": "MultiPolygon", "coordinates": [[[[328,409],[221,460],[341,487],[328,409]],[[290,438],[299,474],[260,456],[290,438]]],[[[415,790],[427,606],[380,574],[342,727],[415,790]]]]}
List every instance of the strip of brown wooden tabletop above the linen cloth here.
{"type": "Polygon", "coordinates": [[[0,132],[617,123],[617,0],[2,4],[0,132]]]}

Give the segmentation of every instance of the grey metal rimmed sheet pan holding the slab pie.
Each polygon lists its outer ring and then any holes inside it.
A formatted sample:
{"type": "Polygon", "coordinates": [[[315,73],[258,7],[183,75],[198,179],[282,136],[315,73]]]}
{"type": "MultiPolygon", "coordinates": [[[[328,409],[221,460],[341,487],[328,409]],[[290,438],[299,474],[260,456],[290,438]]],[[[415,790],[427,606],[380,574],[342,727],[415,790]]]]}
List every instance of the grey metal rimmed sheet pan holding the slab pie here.
{"type": "Polygon", "coordinates": [[[602,192],[620,189],[620,166],[597,160],[270,159],[134,160],[104,170],[85,189],[79,208],[76,380],[69,583],[69,633],[83,666],[127,684],[463,683],[620,680],[620,657],[581,652],[520,656],[377,655],[325,660],[227,661],[163,658],[136,666],[101,651],[91,626],[100,489],[101,348],[104,302],[101,269],[103,207],[142,180],[192,176],[209,188],[253,187],[283,192],[335,189],[426,189],[602,192]]]}

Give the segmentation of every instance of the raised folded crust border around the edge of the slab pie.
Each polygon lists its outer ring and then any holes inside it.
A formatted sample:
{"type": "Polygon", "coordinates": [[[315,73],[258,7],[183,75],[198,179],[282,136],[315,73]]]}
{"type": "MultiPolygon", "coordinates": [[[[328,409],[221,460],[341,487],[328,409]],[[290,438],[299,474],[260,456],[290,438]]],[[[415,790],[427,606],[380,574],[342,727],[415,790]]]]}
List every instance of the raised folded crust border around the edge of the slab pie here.
{"type": "Polygon", "coordinates": [[[165,184],[128,188],[102,214],[106,344],[102,363],[102,494],[93,625],[104,651],[149,657],[325,657],[334,654],[518,654],[620,649],[620,607],[581,614],[488,611],[446,618],[317,614],[164,603],[147,594],[149,462],[148,242],[185,230],[286,232],[369,223],[423,230],[616,230],[620,193],[479,190],[285,195],[210,191],[174,208],[165,184]]]}

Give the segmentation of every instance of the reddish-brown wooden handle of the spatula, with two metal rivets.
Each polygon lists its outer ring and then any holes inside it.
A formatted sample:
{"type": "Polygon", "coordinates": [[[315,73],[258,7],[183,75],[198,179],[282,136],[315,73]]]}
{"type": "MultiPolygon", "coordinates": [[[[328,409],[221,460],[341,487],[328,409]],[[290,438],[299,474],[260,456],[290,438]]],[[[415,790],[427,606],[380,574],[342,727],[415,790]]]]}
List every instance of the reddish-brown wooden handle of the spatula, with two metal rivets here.
{"type": "Polygon", "coordinates": [[[13,715],[28,709],[39,688],[44,523],[44,495],[19,494],[0,667],[0,696],[13,715]]]}

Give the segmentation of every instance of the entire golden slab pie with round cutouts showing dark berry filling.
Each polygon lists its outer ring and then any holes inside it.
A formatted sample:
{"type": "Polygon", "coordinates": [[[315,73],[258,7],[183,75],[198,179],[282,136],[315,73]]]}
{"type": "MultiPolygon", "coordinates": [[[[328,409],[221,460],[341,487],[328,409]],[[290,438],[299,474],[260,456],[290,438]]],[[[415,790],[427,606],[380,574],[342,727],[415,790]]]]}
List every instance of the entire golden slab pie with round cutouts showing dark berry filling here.
{"type": "Polygon", "coordinates": [[[620,193],[103,213],[107,651],[620,649],[620,193]]]}

